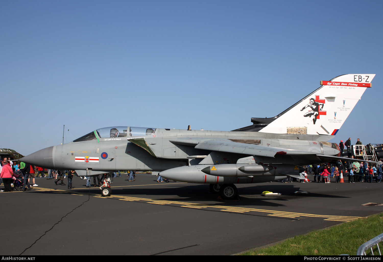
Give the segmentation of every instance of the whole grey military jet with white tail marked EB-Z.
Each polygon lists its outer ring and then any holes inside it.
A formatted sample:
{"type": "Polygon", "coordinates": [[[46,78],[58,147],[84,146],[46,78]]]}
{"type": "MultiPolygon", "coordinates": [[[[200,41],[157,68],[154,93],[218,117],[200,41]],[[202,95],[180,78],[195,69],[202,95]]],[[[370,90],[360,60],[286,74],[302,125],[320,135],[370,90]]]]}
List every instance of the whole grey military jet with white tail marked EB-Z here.
{"type": "MultiPolygon", "coordinates": [[[[115,170],[160,172],[172,180],[210,184],[224,199],[237,183],[302,178],[302,165],[342,159],[334,138],[375,74],[347,74],[321,86],[273,118],[252,118],[233,131],[115,126],[20,160],[93,176],[115,170]]],[[[105,179],[101,194],[108,196],[105,179]]]]}

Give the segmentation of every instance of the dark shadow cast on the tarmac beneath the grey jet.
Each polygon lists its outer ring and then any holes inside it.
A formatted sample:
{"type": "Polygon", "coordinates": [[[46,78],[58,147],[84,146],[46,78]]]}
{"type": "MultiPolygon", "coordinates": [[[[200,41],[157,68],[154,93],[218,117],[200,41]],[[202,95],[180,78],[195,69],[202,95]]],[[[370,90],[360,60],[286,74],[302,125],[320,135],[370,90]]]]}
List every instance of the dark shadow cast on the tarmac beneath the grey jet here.
{"type": "MultiPolygon", "coordinates": [[[[63,188],[64,189],[64,188],[63,188]]],[[[218,200],[218,194],[209,192],[208,185],[185,185],[167,184],[166,188],[112,188],[112,195],[139,196],[157,200],[167,201],[218,201],[218,205],[227,206],[286,206],[282,202],[296,198],[348,198],[347,196],[327,195],[318,193],[309,193],[308,195],[295,195],[295,191],[299,191],[300,187],[296,185],[254,185],[253,187],[239,188],[240,201],[225,201],[218,200]],[[264,191],[281,193],[280,197],[265,197],[261,196],[264,191]],[[165,198],[162,198],[164,196],[165,198]],[[173,197],[169,197],[173,196],[173,197]],[[272,201],[270,201],[272,200],[272,201]],[[273,203],[278,201],[280,203],[273,203]]],[[[98,188],[71,190],[71,193],[95,193],[98,194],[98,188]]],[[[37,193],[37,192],[36,192],[37,193]]],[[[39,193],[54,193],[54,191],[39,192],[39,193]]]]}

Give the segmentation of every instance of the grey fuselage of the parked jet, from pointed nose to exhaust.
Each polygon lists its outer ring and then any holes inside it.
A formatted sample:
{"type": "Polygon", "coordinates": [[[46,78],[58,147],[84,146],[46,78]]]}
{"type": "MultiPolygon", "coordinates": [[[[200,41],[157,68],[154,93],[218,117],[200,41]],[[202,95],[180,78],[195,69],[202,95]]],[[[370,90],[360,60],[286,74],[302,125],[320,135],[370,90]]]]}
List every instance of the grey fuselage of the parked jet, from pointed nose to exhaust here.
{"type": "MultiPolygon", "coordinates": [[[[113,129],[113,127],[107,129],[113,129]]],[[[126,127],[126,129],[131,128],[126,127]]],[[[77,170],[79,175],[85,176],[87,173],[80,170],[92,170],[92,173],[88,173],[88,175],[97,175],[105,172],[115,172],[116,170],[160,172],[188,165],[237,164],[237,162],[241,163],[241,160],[243,163],[250,163],[244,160],[246,159],[246,153],[241,152],[243,149],[238,152],[219,152],[195,148],[198,141],[205,140],[233,141],[245,146],[254,144],[265,147],[278,147],[281,150],[293,149],[332,156],[339,154],[334,144],[325,141],[333,136],[161,128],[150,128],[150,130],[154,132],[144,136],[134,136],[134,134],[130,136],[129,133],[126,136],[112,138],[99,137],[99,134],[94,131],[97,137],[93,139],[79,142],[72,141],[67,144],[48,147],[21,160],[50,169],[77,170]],[[320,142],[318,139],[323,141],[320,142]]],[[[251,154],[249,155],[251,156],[251,154]]],[[[275,155],[275,157],[252,156],[250,158],[252,158],[250,160],[255,159],[251,162],[253,164],[260,162],[271,165],[308,165],[323,162],[315,154],[304,156],[275,155]]],[[[205,181],[200,179],[200,176],[198,178],[187,176],[187,174],[185,174],[185,177],[179,174],[177,180],[195,183],[216,183],[217,181],[216,176],[213,175],[208,175],[205,181]]],[[[258,177],[255,180],[253,178],[252,183],[256,183],[258,180],[259,182],[265,182],[281,178],[285,178],[285,176],[268,175],[263,178],[258,177]]],[[[226,177],[224,179],[236,180],[235,178],[226,177]]],[[[221,181],[223,181],[222,178],[221,181]]]]}

